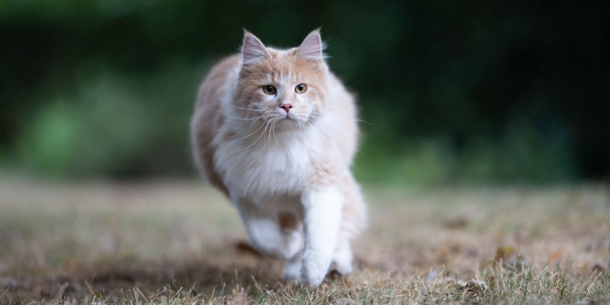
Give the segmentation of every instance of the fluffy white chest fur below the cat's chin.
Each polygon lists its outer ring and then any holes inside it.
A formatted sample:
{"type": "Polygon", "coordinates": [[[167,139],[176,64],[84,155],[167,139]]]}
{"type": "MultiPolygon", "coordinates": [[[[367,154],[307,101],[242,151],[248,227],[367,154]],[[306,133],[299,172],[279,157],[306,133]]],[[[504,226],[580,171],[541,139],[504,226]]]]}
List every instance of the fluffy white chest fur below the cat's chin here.
{"type": "Polygon", "coordinates": [[[323,152],[320,139],[303,131],[258,136],[240,141],[235,136],[216,151],[215,165],[231,196],[262,201],[268,196],[303,192],[313,164],[323,152]]]}

